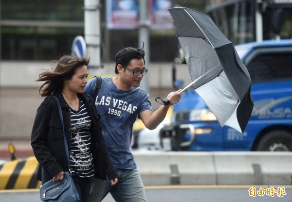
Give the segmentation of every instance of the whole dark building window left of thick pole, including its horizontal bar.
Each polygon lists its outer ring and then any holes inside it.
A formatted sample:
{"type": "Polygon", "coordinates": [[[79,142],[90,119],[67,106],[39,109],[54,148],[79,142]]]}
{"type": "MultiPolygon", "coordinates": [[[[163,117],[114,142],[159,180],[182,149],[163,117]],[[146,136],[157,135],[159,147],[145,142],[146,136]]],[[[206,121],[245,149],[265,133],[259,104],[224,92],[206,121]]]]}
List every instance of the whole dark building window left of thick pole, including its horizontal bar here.
{"type": "Polygon", "coordinates": [[[52,60],[84,35],[80,0],[1,0],[1,59],[52,60]]]}

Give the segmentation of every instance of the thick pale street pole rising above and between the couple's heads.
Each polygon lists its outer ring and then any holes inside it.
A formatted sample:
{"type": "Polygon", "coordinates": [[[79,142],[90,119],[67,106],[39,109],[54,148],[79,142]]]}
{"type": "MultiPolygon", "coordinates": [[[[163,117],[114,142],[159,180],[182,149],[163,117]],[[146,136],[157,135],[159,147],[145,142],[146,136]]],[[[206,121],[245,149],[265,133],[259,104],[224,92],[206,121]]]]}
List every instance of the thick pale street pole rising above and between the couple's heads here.
{"type": "Polygon", "coordinates": [[[87,55],[90,57],[89,73],[98,74],[101,68],[100,50],[100,3],[99,0],[84,0],[84,36],[87,45],[87,55]]]}

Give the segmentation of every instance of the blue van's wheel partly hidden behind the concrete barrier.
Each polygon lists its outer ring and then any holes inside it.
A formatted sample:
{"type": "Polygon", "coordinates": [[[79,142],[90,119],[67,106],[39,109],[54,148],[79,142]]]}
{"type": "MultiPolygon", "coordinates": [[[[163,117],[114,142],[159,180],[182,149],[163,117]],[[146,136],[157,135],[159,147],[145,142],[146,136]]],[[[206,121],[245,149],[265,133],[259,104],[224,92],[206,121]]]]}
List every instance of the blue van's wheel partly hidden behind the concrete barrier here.
{"type": "Polygon", "coordinates": [[[256,151],[292,152],[292,134],[287,131],[273,131],[258,142],[256,151]]]}

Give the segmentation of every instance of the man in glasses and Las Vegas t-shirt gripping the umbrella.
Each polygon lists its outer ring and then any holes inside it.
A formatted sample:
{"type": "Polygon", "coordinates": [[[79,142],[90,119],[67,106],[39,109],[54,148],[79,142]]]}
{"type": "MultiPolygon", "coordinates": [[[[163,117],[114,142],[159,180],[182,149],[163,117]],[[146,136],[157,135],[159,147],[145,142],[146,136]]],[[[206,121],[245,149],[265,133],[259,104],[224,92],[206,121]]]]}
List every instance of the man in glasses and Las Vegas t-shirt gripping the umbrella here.
{"type": "MultiPolygon", "coordinates": [[[[103,77],[98,96],[93,98],[119,181],[111,186],[109,179],[94,179],[89,202],[100,202],[109,192],[117,202],[146,202],[144,185],[130,152],[133,123],[138,116],[146,128],[155,129],[164,120],[169,106],[180,100],[181,89],[167,96],[170,105],[162,105],[153,112],[149,95],[139,87],[148,71],[144,55],[143,48],[120,50],[116,54],[116,76],[103,77]]],[[[93,78],[85,92],[93,96],[95,86],[96,78],[93,78]]]]}

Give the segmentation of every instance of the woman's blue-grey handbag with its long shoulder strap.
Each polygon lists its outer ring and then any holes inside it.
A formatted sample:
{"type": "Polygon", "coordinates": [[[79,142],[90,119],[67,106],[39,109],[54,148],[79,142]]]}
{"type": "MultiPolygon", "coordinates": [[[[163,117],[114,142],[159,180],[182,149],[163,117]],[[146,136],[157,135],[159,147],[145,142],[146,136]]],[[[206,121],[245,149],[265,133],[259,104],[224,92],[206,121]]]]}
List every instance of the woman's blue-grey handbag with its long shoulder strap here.
{"type": "MultiPolygon", "coordinates": [[[[58,99],[53,96],[58,103],[59,115],[63,126],[64,144],[67,156],[68,167],[70,171],[69,150],[67,139],[64,132],[64,121],[61,111],[61,105],[58,99]]],[[[44,178],[44,170],[42,168],[42,178],[44,178]]],[[[64,172],[64,179],[62,181],[55,181],[53,179],[41,185],[39,188],[40,200],[44,202],[80,202],[79,194],[72,179],[71,171],[64,172]]]]}

